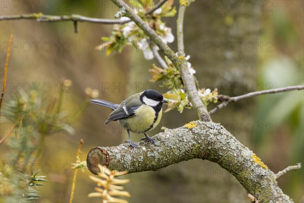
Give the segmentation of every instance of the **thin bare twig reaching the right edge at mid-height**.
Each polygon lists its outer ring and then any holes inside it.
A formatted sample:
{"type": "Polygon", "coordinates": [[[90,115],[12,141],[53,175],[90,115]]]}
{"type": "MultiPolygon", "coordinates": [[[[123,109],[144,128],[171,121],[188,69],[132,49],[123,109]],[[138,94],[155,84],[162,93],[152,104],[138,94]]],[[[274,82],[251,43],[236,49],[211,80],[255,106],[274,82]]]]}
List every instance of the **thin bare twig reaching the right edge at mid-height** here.
{"type": "Polygon", "coordinates": [[[240,96],[235,96],[235,97],[229,97],[229,96],[226,96],[226,95],[218,95],[218,96],[224,98],[224,101],[223,101],[223,103],[221,103],[220,105],[216,106],[214,109],[209,111],[209,113],[213,114],[214,112],[216,112],[217,110],[219,110],[221,108],[224,108],[228,104],[233,103],[233,102],[238,101],[238,100],[241,100],[241,99],[244,99],[244,98],[248,98],[248,97],[252,97],[252,96],[256,96],[256,95],[261,95],[261,94],[273,94],[273,93],[278,93],[278,92],[286,92],[286,91],[291,91],[291,90],[302,90],[302,89],[304,89],[304,85],[287,86],[287,87],[276,88],[276,89],[250,92],[250,93],[243,94],[243,95],[240,95],[240,96]]]}

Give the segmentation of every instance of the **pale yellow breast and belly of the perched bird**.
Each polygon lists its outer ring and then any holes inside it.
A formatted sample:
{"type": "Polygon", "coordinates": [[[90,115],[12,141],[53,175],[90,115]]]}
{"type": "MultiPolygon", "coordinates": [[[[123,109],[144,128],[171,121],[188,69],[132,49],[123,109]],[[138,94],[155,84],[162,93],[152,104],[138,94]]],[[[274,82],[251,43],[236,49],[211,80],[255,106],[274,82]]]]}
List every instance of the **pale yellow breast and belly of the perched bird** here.
{"type": "Polygon", "coordinates": [[[125,128],[135,133],[143,133],[154,129],[161,121],[162,109],[155,121],[155,110],[147,105],[142,105],[135,111],[135,116],[121,119],[119,122],[125,128]]]}

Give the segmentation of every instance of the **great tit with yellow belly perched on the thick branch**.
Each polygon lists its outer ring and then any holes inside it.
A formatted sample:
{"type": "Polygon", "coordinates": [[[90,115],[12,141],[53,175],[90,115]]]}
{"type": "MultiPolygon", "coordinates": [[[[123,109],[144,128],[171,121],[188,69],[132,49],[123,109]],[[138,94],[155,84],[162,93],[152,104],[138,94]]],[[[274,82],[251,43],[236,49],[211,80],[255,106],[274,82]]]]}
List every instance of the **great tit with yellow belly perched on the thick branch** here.
{"type": "Polygon", "coordinates": [[[143,133],[145,138],[141,140],[155,143],[155,140],[150,138],[145,132],[154,129],[159,124],[163,114],[163,104],[168,103],[161,93],[153,89],[146,89],[143,92],[133,94],[120,105],[100,99],[91,99],[89,101],[113,110],[105,124],[118,120],[128,132],[129,140],[126,142],[133,148],[138,148],[138,146],[133,143],[130,131],[143,133]]]}

